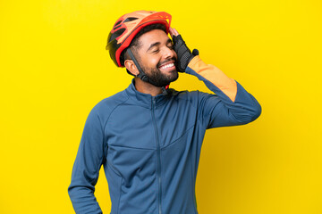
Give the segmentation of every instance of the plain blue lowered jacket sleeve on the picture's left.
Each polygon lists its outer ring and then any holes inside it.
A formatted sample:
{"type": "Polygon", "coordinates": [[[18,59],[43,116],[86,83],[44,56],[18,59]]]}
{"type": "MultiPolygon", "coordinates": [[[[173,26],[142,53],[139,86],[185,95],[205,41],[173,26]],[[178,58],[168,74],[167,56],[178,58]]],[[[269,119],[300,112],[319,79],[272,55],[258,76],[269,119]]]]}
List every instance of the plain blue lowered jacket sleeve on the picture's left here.
{"type": "Polygon", "coordinates": [[[68,187],[77,214],[102,213],[94,192],[99,169],[105,160],[103,141],[103,129],[94,107],[85,123],[68,187]]]}

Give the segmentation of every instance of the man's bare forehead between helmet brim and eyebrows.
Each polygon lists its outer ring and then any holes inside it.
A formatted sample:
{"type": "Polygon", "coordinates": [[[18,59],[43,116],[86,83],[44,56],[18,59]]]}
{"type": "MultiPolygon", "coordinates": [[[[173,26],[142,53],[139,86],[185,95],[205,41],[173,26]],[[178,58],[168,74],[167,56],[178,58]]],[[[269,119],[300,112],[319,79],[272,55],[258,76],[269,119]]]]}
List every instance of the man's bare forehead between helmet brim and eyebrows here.
{"type": "Polygon", "coordinates": [[[140,36],[139,39],[141,47],[145,48],[157,42],[159,42],[160,44],[166,43],[169,40],[169,37],[162,29],[152,29],[140,36]]]}

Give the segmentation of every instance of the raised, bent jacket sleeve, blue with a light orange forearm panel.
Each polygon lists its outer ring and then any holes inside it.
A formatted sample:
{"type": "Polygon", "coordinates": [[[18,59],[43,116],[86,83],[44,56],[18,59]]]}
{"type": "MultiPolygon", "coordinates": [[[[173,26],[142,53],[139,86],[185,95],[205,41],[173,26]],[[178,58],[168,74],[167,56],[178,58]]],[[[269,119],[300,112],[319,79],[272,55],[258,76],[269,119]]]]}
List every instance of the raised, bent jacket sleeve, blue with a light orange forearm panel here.
{"type": "Polygon", "coordinates": [[[261,114],[254,96],[214,65],[202,62],[199,56],[191,60],[185,72],[202,80],[216,94],[198,94],[199,117],[206,128],[247,124],[261,114]]]}

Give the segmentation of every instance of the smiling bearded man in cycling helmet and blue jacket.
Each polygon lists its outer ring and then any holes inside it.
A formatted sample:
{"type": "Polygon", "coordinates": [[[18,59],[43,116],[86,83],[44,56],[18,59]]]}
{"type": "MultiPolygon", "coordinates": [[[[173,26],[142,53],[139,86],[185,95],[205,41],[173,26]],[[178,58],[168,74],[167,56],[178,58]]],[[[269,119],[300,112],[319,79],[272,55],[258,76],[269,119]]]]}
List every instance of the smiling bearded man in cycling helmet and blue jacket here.
{"type": "Polygon", "coordinates": [[[68,188],[77,213],[102,213],[94,196],[102,165],[112,214],[198,213],[195,181],[206,129],[260,115],[256,99],[202,62],[197,50],[191,53],[170,22],[166,12],[139,11],[114,24],[106,48],[135,78],[89,113],[68,188]],[[178,71],[204,81],[214,94],[168,88],[178,71]]]}

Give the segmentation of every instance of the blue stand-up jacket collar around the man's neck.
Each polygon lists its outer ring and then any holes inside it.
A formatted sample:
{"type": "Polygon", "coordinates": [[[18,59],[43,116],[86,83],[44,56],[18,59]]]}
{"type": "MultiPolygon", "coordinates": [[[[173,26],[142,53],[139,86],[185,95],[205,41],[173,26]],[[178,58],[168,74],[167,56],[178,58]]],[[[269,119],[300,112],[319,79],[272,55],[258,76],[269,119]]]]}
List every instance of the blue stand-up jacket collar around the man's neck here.
{"type": "Polygon", "coordinates": [[[153,105],[154,106],[162,105],[163,103],[165,103],[166,100],[170,98],[170,94],[171,94],[171,90],[169,89],[167,89],[168,95],[160,94],[157,96],[152,96],[149,94],[141,93],[135,88],[134,78],[132,78],[130,86],[128,86],[125,89],[125,91],[127,95],[130,96],[132,101],[135,101],[136,104],[146,107],[148,109],[151,109],[153,105]]]}

